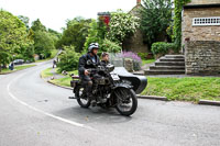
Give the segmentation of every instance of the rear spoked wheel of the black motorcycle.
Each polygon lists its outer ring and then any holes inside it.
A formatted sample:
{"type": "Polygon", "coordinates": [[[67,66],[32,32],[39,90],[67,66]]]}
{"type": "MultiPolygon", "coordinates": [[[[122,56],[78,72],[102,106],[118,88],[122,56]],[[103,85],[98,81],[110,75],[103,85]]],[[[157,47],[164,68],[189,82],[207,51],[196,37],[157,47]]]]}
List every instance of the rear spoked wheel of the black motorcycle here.
{"type": "Polygon", "coordinates": [[[81,108],[88,108],[90,105],[90,100],[87,98],[84,87],[77,87],[75,96],[77,97],[77,102],[81,108]]]}

